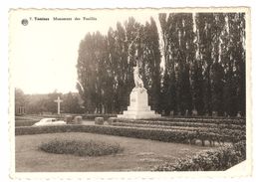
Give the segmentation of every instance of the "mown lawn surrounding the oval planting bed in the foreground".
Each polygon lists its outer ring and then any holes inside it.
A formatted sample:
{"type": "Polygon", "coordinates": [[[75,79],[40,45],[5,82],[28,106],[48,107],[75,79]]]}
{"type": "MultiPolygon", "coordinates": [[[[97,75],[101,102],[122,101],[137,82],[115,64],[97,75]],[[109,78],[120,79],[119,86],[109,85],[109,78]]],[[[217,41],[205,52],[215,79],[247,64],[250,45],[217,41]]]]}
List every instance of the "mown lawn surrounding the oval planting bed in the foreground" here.
{"type": "Polygon", "coordinates": [[[209,147],[166,143],[121,136],[68,132],[15,136],[16,172],[83,172],[83,171],[147,171],[163,162],[174,163],[177,158],[193,155],[209,147]],[[99,156],[75,156],[41,151],[42,142],[53,139],[94,139],[120,143],[124,152],[99,156]]]}

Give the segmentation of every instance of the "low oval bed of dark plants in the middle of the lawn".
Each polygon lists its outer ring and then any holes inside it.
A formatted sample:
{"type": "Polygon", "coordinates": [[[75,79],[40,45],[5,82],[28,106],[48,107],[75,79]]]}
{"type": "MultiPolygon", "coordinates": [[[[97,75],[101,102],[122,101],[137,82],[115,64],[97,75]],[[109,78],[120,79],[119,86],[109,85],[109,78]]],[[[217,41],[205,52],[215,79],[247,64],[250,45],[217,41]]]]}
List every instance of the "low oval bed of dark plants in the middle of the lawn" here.
{"type": "Polygon", "coordinates": [[[120,144],[103,141],[52,140],[42,143],[39,148],[45,152],[57,154],[74,154],[79,156],[103,156],[124,151],[120,144]]]}

